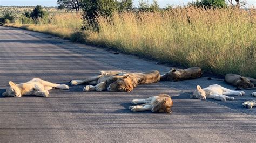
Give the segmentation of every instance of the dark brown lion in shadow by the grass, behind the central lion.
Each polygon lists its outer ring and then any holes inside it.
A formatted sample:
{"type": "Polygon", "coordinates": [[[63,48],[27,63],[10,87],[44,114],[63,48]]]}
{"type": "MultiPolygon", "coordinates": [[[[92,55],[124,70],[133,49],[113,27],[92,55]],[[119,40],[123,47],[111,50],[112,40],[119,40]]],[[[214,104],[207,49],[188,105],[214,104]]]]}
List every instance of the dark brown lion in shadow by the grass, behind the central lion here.
{"type": "Polygon", "coordinates": [[[203,70],[200,67],[192,67],[188,69],[172,69],[161,75],[163,81],[181,81],[193,78],[200,78],[203,75],[203,70]]]}

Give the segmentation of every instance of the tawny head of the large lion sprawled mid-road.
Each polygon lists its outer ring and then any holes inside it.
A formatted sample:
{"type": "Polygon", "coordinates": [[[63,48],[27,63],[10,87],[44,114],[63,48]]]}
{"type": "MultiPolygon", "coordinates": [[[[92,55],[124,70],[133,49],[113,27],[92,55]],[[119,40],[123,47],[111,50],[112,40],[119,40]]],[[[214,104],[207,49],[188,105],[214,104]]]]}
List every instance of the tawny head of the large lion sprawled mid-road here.
{"type": "Polygon", "coordinates": [[[133,80],[129,77],[129,75],[124,75],[122,78],[118,78],[118,80],[111,83],[109,87],[107,87],[107,90],[131,92],[133,90],[133,80]]]}

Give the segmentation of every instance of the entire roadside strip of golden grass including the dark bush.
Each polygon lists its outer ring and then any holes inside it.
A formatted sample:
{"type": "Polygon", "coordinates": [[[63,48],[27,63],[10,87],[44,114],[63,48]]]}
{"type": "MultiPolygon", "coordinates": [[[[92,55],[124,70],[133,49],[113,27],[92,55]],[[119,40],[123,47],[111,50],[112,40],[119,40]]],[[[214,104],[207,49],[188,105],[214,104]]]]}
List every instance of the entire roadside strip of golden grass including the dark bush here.
{"type": "MultiPolygon", "coordinates": [[[[198,3],[199,6],[169,6],[163,10],[153,4],[142,3],[138,9],[125,7],[129,8],[125,11],[120,11],[120,6],[116,10],[106,8],[110,15],[97,13],[91,19],[79,12],[37,20],[27,17],[28,21],[19,18],[5,26],[118,49],[165,63],[200,66],[222,75],[256,77],[255,9],[226,4],[220,8],[202,7],[198,3]]],[[[85,7],[82,9],[86,11],[85,7]]]]}

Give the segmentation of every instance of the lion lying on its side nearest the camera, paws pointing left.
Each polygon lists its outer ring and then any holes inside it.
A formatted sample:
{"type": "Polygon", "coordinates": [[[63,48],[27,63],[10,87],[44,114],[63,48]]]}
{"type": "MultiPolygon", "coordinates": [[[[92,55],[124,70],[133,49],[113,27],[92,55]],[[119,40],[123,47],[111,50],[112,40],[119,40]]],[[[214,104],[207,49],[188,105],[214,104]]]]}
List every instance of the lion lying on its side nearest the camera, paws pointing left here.
{"type": "Polygon", "coordinates": [[[151,110],[154,113],[172,113],[172,99],[167,94],[160,94],[146,99],[134,99],[132,104],[140,104],[137,106],[130,106],[129,109],[133,112],[151,110]]]}

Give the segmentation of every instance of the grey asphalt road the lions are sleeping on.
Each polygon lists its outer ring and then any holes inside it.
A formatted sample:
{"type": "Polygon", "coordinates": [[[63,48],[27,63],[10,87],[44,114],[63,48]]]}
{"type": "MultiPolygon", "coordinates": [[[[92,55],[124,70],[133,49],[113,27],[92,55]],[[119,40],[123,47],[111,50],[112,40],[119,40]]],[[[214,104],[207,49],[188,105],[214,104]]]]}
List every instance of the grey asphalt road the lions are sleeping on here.
{"type": "MultiPolygon", "coordinates": [[[[9,81],[39,77],[68,84],[99,70],[165,73],[169,68],[51,35],[0,27],[1,94],[9,81]]],[[[234,96],[235,101],[189,98],[196,85],[211,84],[235,89],[203,77],[139,85],[131,93],[82,92],[79,85],[50,90],[49,98],[0,96],[0,142],[256,142],[256,108],[242,107],[253,98],[252,90],[234,96]],[[132,99],[160,93],[172,96],[171,115],[128,110],[132,99]]]]}

